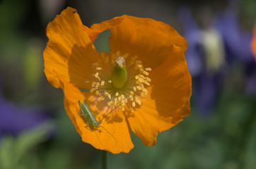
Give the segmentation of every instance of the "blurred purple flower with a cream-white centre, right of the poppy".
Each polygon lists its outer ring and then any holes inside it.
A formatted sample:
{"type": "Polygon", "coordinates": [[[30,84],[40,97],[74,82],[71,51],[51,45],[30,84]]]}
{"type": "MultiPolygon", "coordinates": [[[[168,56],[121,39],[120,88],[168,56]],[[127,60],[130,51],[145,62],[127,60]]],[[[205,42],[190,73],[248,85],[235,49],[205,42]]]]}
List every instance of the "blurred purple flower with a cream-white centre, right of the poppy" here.
{"type": "Polygon", "coordinates": [[[202,116],[207,116],[214,108],[225,64],[222,39],[214,27],[199,28],[190,8],[180,8],[178,14],[188,43],[185,56],[193,78],[194,104],[202,116]]]}

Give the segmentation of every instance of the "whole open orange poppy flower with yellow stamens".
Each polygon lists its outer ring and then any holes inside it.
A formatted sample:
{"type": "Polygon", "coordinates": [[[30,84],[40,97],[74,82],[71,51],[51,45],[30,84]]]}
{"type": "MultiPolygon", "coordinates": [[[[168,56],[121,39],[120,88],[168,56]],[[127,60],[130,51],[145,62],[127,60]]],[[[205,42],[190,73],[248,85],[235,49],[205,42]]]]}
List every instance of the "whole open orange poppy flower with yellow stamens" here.
{"type": "Polygon", "coordinates": [[[187,41],[170,25],[122,15],[88,28],[74,8],[66,8],[46,34],[45,75],[62,88],[66,113],[83,142],[128,153],[134,147],[130,130],[153,146],[158,132],[190,114],[187,41]],[[110,54],[98,53],[93,41],[107,29],[110,54]],[[79,115],[78,101],[85,99],[98,121],[109,113],[98,127],[79,115]]]}

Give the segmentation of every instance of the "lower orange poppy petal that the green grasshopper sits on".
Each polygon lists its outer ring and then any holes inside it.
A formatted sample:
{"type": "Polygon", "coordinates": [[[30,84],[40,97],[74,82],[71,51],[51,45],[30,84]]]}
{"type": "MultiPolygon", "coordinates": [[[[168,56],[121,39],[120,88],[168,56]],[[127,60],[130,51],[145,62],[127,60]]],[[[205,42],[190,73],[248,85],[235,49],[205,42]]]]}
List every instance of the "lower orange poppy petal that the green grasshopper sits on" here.
{"type": "MultiPolygon", "coordinates": [[[[75,125],[76,131],[81,135],[83,142],[91,144],[96,149],[110,151],[113,154],[118,154],[120,152],[129,153],[134,145],[132,144],[129,125],[120,108],[115,109],[115,111],[110,113],[110,116],[107,116],[108,118],[103,119],[103,123],[98,127],[100,131],[91,131],[86,125],[85,120],[78,115],[78,112],[81,113],[78,100],[83,103],[84,99],[88,98],[89,93],[81,92],[74,86],[74,84],[65,82],[64,78],[60,77],[60,75],[59,82],[64,91],[64,106],[66,113],[75,125]]],[[[92,98],[92,96],[86,99],[88,105],[91,108],[91,111],[96,113],[97,120],[100,120],[98,118],[100,116],[99,114],[105,113],[105,110],[99,112],[95,106],[95,101],[93,102],[93,99],[90,98],[92,98]]]]}

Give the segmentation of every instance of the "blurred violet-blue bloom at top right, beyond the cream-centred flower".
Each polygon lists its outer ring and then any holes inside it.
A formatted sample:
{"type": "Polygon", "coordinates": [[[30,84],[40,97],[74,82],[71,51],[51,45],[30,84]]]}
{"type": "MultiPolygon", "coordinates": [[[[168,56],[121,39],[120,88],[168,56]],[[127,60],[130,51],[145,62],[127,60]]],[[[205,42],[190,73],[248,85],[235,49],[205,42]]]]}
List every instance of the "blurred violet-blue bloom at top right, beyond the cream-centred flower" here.
{"type": "Polygon", "coordinates": [[[223,37],[228,61],[230,62],[235,58],[245,62],[254,61],[250,49],[252,31],[246,32],[242,29],[238,20],[238,6],[235,1],[230,1],[230,3],[230,6],[215,23],[216,29],[223,37]]]}

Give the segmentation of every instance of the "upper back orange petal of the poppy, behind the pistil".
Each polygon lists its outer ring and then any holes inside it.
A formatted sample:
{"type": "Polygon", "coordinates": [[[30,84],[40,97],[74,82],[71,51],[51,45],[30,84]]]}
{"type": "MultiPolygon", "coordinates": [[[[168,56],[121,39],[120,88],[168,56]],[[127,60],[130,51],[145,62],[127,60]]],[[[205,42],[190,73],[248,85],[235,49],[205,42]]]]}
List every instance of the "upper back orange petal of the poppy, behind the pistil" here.
{"type": "Polygon", "coordinates": [[[111,27],[110,56],[117,51],[138,56],[145,67],[156,68],[170,55],[171,46],[186,51],[187,41],[165,23],[149,18],[122,15],[120,25],[111,27]]]}

